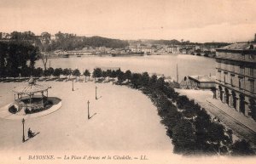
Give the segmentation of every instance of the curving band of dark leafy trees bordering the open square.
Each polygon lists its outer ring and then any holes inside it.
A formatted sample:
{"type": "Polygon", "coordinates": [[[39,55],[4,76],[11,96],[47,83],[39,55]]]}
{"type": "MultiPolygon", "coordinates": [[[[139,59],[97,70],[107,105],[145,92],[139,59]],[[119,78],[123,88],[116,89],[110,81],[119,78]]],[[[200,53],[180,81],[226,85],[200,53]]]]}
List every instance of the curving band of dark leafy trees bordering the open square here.
{"type": "MultiPolygon", "coordinates": [[[[77,79],[88,82],[90,76],[95,82],[114,82],[117,85],[127,85],[139,89],[148,96],[158,109],[161,123],[166,126],[166,134],[172,139],[174,152],[183,155],[254,155],[250,144],[245,140],[233,142],[232,131],[219,122],[214,121],[207,111],[175,92],[175,82],[166,82],[165,76],[149,76],[148,72],[132,73],[131,71],[107,70],[96,68],[92,73],[89,70],[82,72],[78,69],[37,68],[37,77],[45,81],[67,81],[77,79]],[[65,77],[61,77],[65,76],[65,77]]],[[[5,78],[4,78],[5,79],[5,78]]],[[[6,80],[6,79],[5,79],[6,80]]],[[[92,79],[90,79],[92,80],[92,79]]],[[[4,82],[4,80],[2,79],[4,82]]],[[[9,82],[9,81],[8,81],[9,82]]]]}

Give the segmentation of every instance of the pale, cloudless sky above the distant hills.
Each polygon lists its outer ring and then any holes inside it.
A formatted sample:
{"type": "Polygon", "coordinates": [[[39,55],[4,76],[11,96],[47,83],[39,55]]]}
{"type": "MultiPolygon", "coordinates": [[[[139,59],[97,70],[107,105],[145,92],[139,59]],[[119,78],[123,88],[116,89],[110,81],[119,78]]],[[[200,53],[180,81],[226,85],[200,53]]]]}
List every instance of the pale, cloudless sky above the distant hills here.
{"type": "Polygon", "coordinates": [[[0,31],[119,39],[244,42],[255,0],[0,0],[0,31]]]}

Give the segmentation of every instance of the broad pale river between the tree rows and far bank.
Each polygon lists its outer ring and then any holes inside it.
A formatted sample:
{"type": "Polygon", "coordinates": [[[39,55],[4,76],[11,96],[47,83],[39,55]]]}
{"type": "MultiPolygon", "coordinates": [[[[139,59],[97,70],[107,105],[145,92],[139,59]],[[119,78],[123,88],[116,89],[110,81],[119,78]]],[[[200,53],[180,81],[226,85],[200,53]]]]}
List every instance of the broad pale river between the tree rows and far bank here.
{"type": "MultiPolygon", "coordinates": [[[[131,57],[82,56],[71,58],[49,59],[47,66],[53,68],[78,68],[80,71],[96,67],[120,67],[122,71],[148,71],[148,73],[164,74],[176,79],[178,70],[179,82],[188,75],[215,75],[215,59],[191,54],[162,54],[131,57]]],[[[36,67],[43,67],[38,60],[36,67]]]]}

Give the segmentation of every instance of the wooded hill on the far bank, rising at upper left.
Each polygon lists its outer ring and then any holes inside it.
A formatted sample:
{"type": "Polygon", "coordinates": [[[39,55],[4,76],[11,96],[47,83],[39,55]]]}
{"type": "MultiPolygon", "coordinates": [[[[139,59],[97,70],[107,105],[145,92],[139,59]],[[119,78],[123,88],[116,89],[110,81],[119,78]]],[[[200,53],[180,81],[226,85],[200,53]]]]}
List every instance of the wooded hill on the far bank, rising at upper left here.
{"type": "MultiPolygon", "coordinates": [[[[0,39],[1,38],[0,36],[0,39]]],[[[5,39],[7,40],[7,39],[5,39]]],[[[75,50],[84,47],[106,47],[106,48],[125,48],[129,43],[120,39],[111,39],[107,37],[78,37],[72,33],[55,34],[55,39],[51,38],[49,32],[42,32],[40,36],[36,36],[32,31],[13,31],[9,34],[9,40],[18,42],[30,42],[36,45],[41,51],[55,51],[57,49],[75,50]],[[42,42],[40,41],[42,40],[42,42]]]]}

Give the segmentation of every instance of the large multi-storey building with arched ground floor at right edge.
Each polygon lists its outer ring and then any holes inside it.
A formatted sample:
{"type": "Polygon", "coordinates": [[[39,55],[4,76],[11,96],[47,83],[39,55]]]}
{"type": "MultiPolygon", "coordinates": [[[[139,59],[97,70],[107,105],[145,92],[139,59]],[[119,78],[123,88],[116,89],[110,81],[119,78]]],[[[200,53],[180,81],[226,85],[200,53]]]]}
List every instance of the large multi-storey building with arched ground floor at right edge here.
{"type": "Polygon", "coordinates": [[[214,97],[256,120],[256,42],[235,43],[216,52],[214,97]]]}

